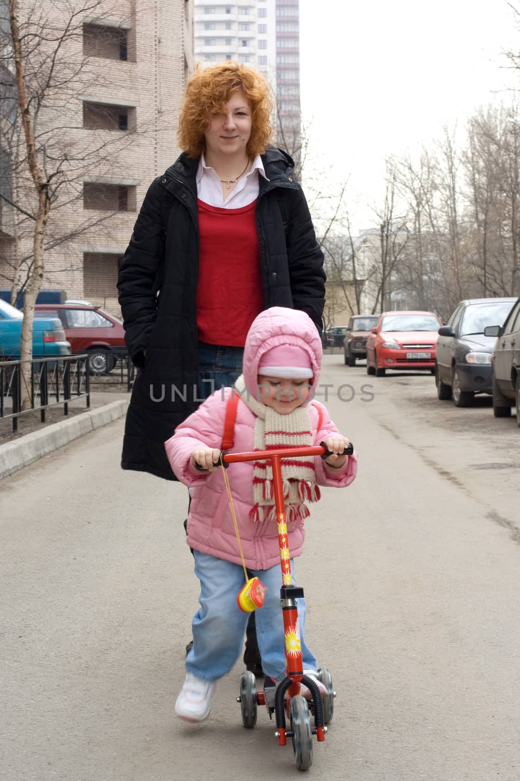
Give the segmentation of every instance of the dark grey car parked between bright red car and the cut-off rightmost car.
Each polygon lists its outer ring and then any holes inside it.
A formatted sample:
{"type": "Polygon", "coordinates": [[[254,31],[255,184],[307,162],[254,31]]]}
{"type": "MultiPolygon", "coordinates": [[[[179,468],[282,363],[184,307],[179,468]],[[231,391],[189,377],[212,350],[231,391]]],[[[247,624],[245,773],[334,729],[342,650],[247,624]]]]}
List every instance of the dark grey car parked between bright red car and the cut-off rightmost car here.
{"type": "Polygon", "coordinates": [[[491,353],[495,337],[487,326],[504,323],[516,298],[469,298],[461,301],[439,329],[435,362],[437,397],[469,407],[476,393],[491,393],[491,353]]]}

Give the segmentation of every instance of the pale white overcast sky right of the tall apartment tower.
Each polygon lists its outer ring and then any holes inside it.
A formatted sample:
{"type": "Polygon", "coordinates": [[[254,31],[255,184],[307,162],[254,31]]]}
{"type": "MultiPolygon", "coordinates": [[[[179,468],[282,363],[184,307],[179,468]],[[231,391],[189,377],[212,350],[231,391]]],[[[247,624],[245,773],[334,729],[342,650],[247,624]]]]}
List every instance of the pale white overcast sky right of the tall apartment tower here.
{"type": "Polygon", "coordinates": [[[505,0],[300,0],[300,30],[303,116],[320,168],[350,174],[354,232],[383,192],[385,156],[500,99],[513,77],[501,52],[520,49],[505,0]]]}

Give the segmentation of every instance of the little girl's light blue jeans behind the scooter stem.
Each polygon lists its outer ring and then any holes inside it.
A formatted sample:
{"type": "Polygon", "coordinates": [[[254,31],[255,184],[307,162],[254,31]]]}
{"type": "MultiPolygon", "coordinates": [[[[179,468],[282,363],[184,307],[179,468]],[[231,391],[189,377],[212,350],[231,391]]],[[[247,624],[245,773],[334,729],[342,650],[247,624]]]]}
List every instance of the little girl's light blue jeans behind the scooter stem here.
{"type": "MultiPolygon", "coordinates": [[[[236,597],[244,585],[239,564],[194,551],[195,574],[200,580],[200,609],[193,616],[193,648],[186,657],[186,672],[215,681],[232,669],[242,651],[249,613],[242,613],[236,597]]],[[[294,575],[294,562],[291,561],[294,575]]],[[[281,567],[253,569],[267,589],[262,608],[255,611],[256,636],[266,675],[276,681],[285,678],[284,620],[280,605],[281,567]]],[[[293,583],[294,583],[293,576],[293,583]]],[[[316,672],[316,659],[306,645],[304,625],[306,604],[299,598],[298,617],[304,670],[316,672]]]]}

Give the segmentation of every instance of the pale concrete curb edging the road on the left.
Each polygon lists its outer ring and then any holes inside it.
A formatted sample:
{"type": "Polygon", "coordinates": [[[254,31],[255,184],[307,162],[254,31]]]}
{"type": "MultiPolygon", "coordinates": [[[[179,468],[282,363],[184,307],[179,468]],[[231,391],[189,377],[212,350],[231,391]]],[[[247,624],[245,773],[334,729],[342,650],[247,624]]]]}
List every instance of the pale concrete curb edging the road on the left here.
{"type": "Polygon", "coordinates": [[[44,455],[52,453],[73,440],[107,426],[108,423],[122,418],[128,407],[128,399],[111,401],[104,407],[97,407],[81,415],[53,423],[39,431],[19,437],[14,442],[0,445],[0,480],[18,472],[24,466],[34,463],[44,455]]]}

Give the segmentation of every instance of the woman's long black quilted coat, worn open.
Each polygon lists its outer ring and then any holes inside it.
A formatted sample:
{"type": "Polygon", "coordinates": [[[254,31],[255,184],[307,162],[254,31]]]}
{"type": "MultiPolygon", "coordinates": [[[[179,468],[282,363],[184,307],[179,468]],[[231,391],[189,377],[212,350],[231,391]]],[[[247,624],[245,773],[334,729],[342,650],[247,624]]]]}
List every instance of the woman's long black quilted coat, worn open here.
{"type": "MultiPolygon", "coordinates": [[[[262,160],[269,181],[259,177],[256,226],[264,305],[302,309],[320,329],[323,254],[305,196],[285,152],[268,149],[262,160]]],[[[164,442],[198,405],[193,395],[198,374],[198,162],[182,154],[152,182],[118,280],[126,345],[140,369],[126,415],[122,468],[167,480],[175,476],[164,442]]]]}

